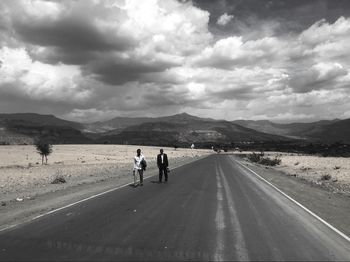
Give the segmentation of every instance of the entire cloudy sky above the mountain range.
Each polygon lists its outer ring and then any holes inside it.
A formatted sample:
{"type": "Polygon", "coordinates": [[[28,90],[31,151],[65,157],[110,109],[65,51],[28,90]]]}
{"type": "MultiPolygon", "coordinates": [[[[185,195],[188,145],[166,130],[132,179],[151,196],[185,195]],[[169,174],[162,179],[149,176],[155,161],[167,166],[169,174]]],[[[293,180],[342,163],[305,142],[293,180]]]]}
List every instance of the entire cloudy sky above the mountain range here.
{"type": "Polygon", "coordinates": [[[1,0],[0,112],[350,118],[350,1],[1,0]]]}

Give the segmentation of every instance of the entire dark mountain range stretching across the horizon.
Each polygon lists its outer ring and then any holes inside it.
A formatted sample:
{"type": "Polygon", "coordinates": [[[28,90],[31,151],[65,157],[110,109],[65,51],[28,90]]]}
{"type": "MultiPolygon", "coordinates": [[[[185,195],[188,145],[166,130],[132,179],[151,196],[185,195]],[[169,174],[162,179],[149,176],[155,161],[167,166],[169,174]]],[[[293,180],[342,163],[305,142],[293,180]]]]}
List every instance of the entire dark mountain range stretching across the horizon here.
{"type": "Polygon", "coordinates": [[[225,121],[186,113],[167,117],[116,117],[82,124],[54,115],[0,114],[0,144],[32,144],[45,136],[55,144],[140,144],[208,147],[248,142],[350,143],[350,119],[279,124],[268,120],[225,121]]]}

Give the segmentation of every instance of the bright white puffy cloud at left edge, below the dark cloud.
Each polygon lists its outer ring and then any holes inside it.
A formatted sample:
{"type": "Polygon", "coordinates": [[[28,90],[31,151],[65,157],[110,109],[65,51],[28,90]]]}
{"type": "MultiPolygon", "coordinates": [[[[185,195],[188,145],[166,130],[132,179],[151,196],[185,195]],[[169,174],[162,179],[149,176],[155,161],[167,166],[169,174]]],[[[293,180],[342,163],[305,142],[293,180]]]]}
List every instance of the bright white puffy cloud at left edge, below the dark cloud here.
{"type": "Polygon", "coordinates": [[[32,61],[23,48],[0,49],[0,92],[11,86],[12,93],[35,100],[84,101],[89,90],[78,86],[80,70],[76,66],[50,65],[32,61]]]}

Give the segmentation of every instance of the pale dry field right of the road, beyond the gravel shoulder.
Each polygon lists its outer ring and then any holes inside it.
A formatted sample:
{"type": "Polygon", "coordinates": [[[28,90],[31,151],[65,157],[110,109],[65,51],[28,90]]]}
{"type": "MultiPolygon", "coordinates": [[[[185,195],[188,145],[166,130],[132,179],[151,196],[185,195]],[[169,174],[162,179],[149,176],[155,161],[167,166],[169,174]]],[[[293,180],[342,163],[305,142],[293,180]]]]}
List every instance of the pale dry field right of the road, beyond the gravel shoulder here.
{"type": "Polygon", "coordinates": [[[278,152],[265,152],[265,156],[280,157],[281,165],[274,168],[287,175],[309,181],[333,192],[350,195],[350,158],[278,152]]]}

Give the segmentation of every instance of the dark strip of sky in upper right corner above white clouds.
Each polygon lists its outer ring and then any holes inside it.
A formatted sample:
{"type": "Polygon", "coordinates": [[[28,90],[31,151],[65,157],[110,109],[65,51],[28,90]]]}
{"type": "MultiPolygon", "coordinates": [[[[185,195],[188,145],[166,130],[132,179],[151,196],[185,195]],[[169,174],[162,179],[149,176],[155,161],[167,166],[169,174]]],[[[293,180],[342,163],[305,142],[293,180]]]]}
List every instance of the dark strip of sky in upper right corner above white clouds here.
{"type": "MultiPolygon", "coordinates": [[[[350,16],[348,0],[193,0],[210,12],[210,28],[215,34],[243,34],[250,30],[274,25],[275,34],[299,33],[316,21],[333,23],[339,14],[350,16]],[[234,15],[229,26],[217,25],[224,13],[234,15]]],[[[255,31],[255,30],[254,30],[255,31]]],[[[256,30],[258,34],[258,30],[256,30]]]]}

